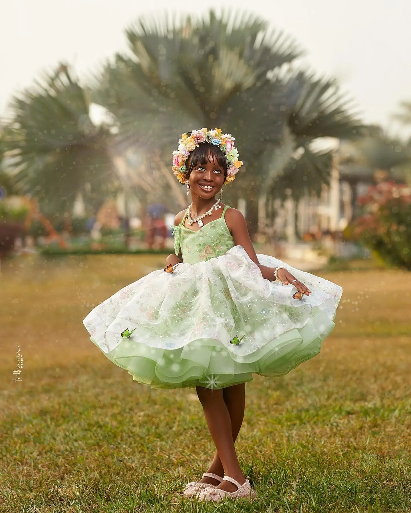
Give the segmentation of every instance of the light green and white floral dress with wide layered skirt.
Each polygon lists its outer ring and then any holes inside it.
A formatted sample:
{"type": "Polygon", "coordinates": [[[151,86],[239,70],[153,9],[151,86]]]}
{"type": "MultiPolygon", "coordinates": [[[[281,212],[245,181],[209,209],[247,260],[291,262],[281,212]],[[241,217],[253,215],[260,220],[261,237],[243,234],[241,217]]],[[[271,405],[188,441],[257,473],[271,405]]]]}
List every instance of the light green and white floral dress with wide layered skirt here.
{"type": "Polygon", "coordinates": [[[174,230],[183,264],[156,270],[116,292],[84,319],[91,341],[135,381],[153,388],[224,388],[281,376],[314,357],[334,327],[342,288],[286,265],[312,293],[262,278],[259,267],[220,219],[198,231],[174,230]],[[130,338],[121,337],[135,328],[130,338]],[[238,345],[230,343],[235,336],[238,345]]]}

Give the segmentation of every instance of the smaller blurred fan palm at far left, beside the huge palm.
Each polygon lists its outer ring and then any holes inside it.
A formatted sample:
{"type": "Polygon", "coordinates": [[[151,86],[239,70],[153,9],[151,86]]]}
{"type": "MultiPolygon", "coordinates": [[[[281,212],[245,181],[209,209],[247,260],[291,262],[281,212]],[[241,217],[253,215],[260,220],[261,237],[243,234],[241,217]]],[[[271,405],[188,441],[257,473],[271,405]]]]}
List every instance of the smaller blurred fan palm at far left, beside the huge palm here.
{"type": "Polygon", "coordinates": [[[67,65],[35,86],[11,104],[6,149],[16,189],[35,198],[49,215],[70,213],[81,192],[93,213],[115,183],[108,127],[91,122],[88,91],[73,80],[67,65]]]}

